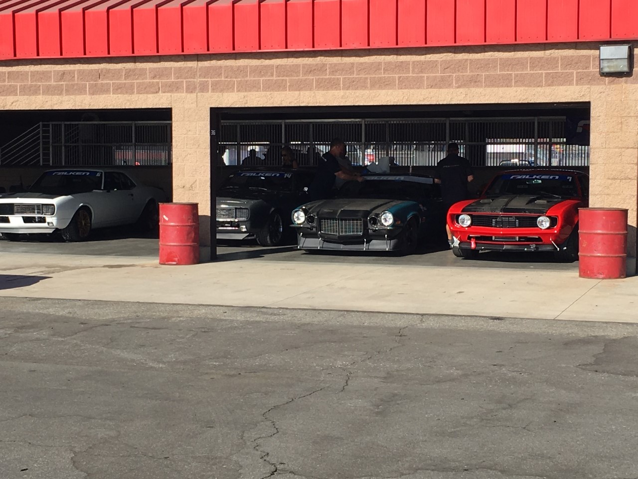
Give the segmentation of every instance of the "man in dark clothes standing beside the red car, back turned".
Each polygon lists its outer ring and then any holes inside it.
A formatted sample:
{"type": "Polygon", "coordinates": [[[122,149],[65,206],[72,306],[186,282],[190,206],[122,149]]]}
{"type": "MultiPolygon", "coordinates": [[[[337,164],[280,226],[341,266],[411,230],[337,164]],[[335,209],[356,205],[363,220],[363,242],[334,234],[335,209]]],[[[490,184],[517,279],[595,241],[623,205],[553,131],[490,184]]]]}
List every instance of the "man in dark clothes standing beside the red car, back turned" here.
{"type": "MultiPolygon", "coordinates": [[[[474,179],[474,172],[470,162],[459,156],[459,146],[450,143],[447,146],[447,156],[436,165],[434,181],[441,184],[441,196],[443,197],[443,208],[447,218],[447,212],[456,202],[468,199],[468,183],[474,179]]],[[[447,231],[447,242],[450,248],[456,246],[457,241],[452,238],[450,227],[445,222],[447,231]]]]}

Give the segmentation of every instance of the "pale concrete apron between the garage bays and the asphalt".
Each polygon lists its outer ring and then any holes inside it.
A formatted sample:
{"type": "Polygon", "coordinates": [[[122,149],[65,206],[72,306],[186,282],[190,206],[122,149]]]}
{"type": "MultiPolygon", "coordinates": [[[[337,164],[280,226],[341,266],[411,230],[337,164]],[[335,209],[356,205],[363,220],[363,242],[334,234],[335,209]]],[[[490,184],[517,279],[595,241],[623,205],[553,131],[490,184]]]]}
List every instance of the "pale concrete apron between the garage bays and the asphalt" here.
{"type": "Polygon", "coordinates": [[[0,265],[0,296],[638,323],[638,278],[576,271],[61,255],[34,265],[20,254],[0,254],[0,265]]]}

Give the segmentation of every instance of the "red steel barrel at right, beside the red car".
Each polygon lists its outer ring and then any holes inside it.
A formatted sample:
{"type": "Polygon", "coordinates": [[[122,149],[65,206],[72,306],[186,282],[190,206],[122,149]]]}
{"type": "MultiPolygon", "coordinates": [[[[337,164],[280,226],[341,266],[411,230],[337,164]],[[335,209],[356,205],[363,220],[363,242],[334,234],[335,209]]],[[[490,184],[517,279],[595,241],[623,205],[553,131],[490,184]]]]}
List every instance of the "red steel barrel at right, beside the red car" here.
{"type": "Polygon", "coordinates": [[[579,276],[627,277],[627,209],[579,209],[579,276]]]}

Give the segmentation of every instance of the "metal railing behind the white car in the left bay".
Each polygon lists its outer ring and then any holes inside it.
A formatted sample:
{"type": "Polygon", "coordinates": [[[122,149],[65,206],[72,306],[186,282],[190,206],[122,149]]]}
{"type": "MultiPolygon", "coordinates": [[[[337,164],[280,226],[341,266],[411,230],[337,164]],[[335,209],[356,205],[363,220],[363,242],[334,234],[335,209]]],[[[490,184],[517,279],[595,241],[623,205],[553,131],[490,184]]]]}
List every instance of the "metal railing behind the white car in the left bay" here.
{"type": "Polygon", "coordinates": [[[148,166],[171,159],[170,121],[38,123],[0,148],[0,165],[148,166]]]}

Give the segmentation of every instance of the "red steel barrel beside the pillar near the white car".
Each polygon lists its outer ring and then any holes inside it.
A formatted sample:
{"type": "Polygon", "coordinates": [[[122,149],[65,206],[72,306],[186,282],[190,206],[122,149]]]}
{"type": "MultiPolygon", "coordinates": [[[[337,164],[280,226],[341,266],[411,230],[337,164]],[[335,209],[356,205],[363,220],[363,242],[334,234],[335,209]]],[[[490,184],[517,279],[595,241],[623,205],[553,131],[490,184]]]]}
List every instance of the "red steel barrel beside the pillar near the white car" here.
{"type": "Polygon", "coordinates": [[[159,264],[199,262],[197,203],[159,204],[159,264]]]}

